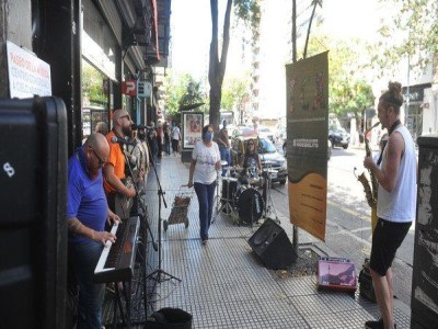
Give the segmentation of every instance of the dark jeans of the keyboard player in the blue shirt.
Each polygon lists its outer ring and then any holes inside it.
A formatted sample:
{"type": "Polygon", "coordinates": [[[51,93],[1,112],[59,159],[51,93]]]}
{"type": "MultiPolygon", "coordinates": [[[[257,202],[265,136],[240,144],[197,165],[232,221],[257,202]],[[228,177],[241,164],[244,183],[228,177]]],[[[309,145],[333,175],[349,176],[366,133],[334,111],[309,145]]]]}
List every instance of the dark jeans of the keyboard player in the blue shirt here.
{"type": "Polygon", "coordinates": [[[69,243],[69,256],[79,284],[77,329],[102,328],[105,284],[93,283],[94,269],[102,249],[101,243],[92,240],[85,243],[69,243]]]}

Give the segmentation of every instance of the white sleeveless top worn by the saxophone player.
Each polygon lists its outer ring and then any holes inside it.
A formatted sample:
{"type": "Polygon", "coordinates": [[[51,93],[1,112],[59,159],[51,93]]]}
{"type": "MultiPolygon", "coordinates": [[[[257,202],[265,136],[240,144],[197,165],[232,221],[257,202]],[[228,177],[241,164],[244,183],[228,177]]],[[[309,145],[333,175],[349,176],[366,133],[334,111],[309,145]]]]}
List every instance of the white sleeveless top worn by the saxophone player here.
{"type": "MultiPolygon", "coordinates": [[[[394,132],[399,132],[403,136],[404,154],[400,162],[399,178],[394,190],[389,193],[379,184],[377,215],[390,222],[408,223],[415,219],[417,202],[415,144],[405,126],[400,126],[394,132]]],[[[387,148],[383,150],[381,168],[384,172],[387,148]]]]}

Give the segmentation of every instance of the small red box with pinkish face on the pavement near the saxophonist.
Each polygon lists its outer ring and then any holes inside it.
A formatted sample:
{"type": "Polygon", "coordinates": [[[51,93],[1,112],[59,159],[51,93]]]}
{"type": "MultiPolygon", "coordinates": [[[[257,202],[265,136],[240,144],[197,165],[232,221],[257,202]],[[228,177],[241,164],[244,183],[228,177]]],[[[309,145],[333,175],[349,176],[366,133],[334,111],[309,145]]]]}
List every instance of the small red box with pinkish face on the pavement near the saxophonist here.
{"type": "Polygon", "coordinates": [[[318,261],[318,288],[356,292],[356,268],[349,259],[324,257],[318,261]]]}

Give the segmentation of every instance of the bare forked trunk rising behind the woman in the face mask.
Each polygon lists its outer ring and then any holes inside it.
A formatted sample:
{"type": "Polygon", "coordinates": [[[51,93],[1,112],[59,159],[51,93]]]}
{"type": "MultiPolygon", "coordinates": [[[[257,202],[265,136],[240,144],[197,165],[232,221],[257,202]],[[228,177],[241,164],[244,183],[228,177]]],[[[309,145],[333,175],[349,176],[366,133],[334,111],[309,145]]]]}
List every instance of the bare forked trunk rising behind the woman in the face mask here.
{"type": "Polygon", "coordinates": [[[227,1],[226,16],[223,21],[223,43],[221,57],[219,58],[218,37],[218,0],[210,0],[211,10],[211,44],[208,82],[210,83],[210,124],[215,132],[219,129],[220,101],[222,98],[222,82],[227,67],[228,47],[230,45],[230,16],[232,0],[227,1]]]}

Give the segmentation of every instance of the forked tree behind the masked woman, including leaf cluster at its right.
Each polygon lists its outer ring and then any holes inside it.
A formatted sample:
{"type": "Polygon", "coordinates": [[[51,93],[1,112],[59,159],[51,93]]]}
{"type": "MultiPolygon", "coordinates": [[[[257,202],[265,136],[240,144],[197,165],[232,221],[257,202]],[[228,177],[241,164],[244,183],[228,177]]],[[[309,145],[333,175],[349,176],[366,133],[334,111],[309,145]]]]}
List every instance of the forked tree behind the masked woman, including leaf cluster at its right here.
{"type": "MultiPolygon", "coordinates": [[[[208,82],[210,84],[210,124],[215,129],[219,129],[219,111],[222,98],[222,83],[227,68],[227,55],[230,45],[230,19],[232,0],[227,0],[226,13],[222,29],[222,48],[219,57],[219,29],[218,29],[218,0],[210,0],[211,11],[211,43],[210,58],[208,69],[208,82]]],[[[250,22],[251,27],[255,31],[260,23],[260,7],[257,0],[234,0],[234,9],[237,15],[244,22],[250,22]]]]}

